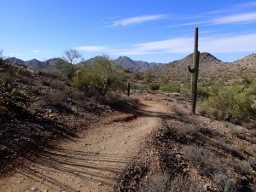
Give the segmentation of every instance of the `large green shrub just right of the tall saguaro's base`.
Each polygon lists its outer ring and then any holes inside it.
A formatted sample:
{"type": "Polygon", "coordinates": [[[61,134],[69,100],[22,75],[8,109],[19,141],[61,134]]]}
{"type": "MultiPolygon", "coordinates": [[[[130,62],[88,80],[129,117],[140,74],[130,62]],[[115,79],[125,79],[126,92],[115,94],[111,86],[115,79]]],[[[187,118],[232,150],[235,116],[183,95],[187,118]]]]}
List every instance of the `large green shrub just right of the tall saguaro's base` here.
{"type": "MultiPolygon", "coordinates": [[[[215,89],[215,88],[214,88],[215,89]]],[[[217,119],[246,121],[254,115],[253,102],[241,87],[218,87],[201,104],[201,110],[212,113],[217,119]]]]}

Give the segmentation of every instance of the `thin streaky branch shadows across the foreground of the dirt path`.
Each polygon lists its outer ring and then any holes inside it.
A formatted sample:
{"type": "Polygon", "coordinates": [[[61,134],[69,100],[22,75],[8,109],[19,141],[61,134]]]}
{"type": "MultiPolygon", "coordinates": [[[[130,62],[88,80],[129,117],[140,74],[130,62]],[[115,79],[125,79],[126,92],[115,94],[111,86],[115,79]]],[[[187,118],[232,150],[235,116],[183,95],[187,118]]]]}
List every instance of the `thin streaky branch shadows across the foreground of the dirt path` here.
{"type": "Polygon", "coordinates": [[[82,181],[81,189],[83,181],[112,186],[113,179],[109,177],[109,174],[119,174],[129,158],[124,154],[95,154],[80,150],[52,148],[44,150],[40,154],[33,153],[27,160],[32,161],[32,165],[35,166],[19,166],[16,172],[20,172],[34,181],[44,179],[44,185],[51,189],[61,186],[61,189],[73,192],[78,189],[73,187],[72,181],[75,183],[82,181]],[[40,166],[39,172],[37,165],[40,166]],[[60,177],[52,176],[56,173],[60,177]],[[69,184],[69,182],[71,183],[69,184]]]}

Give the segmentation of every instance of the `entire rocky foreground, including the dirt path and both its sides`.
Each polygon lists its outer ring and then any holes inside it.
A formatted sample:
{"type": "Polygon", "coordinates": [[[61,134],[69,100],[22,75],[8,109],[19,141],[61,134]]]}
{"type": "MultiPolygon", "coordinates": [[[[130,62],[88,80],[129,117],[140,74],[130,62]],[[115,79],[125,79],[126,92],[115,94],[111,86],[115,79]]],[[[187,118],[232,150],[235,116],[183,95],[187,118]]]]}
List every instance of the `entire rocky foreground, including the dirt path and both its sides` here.
{"type": "Polygon", "coordinates": [[[188,96],[96,101],[44,73],[0,73],[9,98],[27,98],[15,109],[1,101],[1,191],[256,190],[255,137],[191,114],[188,96]]]}

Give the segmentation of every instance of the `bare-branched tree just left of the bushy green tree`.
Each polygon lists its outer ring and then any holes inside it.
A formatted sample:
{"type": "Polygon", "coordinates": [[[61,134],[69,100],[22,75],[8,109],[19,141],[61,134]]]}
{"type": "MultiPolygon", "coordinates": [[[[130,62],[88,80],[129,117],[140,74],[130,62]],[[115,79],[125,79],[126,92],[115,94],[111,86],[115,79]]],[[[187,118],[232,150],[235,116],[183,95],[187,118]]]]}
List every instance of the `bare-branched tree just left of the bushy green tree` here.
{"type": "Polygon", "coordinates": [[[75,65],[82,61],[82,55],[77,49],[67,49],[64,51],[62,59],[57,59],[55,67],[65,76],[71,80],[75,76],[75,65]]]}

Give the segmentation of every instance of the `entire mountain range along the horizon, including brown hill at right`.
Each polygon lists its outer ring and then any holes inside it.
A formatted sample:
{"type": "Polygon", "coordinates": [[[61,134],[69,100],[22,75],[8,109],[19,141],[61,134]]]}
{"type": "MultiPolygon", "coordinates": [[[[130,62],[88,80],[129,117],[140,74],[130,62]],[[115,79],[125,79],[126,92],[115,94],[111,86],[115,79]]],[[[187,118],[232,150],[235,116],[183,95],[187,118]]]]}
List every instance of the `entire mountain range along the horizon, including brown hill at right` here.
{"type": "MultiPolygon", "coordinates": [[[[87,65],[93,65],[96,59],[100,56],[90,58],[87,61],[81,62],[78,65],[84,67],[87,65]]],[[[36,59],[30,61],[22,61],[15,57],[7,59],[14,64],[22,64],[27,67],[43,71],[43,72],[56,72],[55,62],[58,58],[49,59],[47,61],[38,61],[36,59]]],[[[148,72],[156,80],[161,79],[174,79],[182,80],[189,79],[190,74],[188,70],[188,64],[193,63],[193,54],[187,55],[181,60],[172,61],[167,64],[154,63],[146,61],[133,61],[127,56],[120,56],[113,60],[117,66],[130,69],[134,72],[148,72]]],[[[247,55],[244,58],[234,62],[224,62],[218,60],[215,56],[210,53],[200,54],[200,76],[199,78],[204,79],[237,79],[241,77],[241,74],[245,73],[248,77],[256,78],[256,54],[247,55]]]]}

